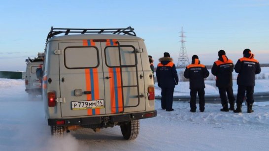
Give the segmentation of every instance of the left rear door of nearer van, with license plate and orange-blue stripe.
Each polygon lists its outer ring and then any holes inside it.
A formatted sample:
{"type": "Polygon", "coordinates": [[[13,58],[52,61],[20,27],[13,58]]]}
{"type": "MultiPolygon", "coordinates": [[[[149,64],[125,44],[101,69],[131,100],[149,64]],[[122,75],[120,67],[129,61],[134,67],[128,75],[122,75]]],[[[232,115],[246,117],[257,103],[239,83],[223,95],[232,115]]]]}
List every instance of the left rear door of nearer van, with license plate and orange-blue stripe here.
{"type": "Polygon", "coordinates": [[[105,114],[100,42],[60,43],[62,117],[105,114]]]}

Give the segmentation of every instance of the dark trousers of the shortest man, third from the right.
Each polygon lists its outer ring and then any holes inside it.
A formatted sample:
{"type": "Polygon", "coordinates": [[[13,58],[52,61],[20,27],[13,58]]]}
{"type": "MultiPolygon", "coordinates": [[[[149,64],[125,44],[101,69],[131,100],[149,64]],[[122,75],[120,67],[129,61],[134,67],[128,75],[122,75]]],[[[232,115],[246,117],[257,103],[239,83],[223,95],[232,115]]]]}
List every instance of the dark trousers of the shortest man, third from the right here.
{"type": "Polygon", "coordinates": [[[190,106],[191,110],[196,110],[196,95],[198,92],[199,96],[199,107],[200,110],[204,110],[204,89],[191,89],[191,101],[190,101],[190,106]]]}

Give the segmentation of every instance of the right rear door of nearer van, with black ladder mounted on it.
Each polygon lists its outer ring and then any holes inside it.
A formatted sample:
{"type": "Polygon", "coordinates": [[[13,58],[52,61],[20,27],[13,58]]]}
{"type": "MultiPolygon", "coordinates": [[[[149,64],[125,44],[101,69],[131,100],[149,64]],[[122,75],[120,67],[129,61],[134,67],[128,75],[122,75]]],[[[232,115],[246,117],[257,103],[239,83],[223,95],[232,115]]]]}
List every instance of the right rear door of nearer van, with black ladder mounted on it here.
{"type": "Polygon", "coordinates": [[[106,114],[145,110],[144,75],[138,42],[101,42],[106,114]]]}

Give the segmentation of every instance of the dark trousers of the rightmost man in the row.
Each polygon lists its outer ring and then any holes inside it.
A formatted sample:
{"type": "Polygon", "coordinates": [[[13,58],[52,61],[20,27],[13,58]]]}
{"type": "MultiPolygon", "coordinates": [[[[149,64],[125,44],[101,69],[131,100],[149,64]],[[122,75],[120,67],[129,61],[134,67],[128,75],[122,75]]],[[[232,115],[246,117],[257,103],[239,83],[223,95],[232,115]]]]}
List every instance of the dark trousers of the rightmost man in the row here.
{"type": "Polygon", "coordinates": [[[254,103],[254,86],[239,86],[237,89],[237,97],[236,97],[236,104],[242,104],[245,97],[245,91],[246,91],[246,102],[248,104],[254,103]]]}

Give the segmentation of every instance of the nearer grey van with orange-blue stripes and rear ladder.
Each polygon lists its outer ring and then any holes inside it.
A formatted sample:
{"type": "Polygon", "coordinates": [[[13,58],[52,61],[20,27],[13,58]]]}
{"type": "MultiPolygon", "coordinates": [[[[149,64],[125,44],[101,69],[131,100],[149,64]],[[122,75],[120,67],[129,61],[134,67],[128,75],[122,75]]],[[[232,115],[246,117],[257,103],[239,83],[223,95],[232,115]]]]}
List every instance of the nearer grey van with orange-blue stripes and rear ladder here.
{"type": "Polygon", "coordinates": [[[43,101],[52,134],[119,125],[135,139],[139,119],[157,116],[154,99],[147,50],[134,29],[51,28],[43,101]]]}

